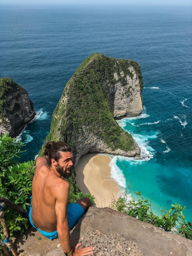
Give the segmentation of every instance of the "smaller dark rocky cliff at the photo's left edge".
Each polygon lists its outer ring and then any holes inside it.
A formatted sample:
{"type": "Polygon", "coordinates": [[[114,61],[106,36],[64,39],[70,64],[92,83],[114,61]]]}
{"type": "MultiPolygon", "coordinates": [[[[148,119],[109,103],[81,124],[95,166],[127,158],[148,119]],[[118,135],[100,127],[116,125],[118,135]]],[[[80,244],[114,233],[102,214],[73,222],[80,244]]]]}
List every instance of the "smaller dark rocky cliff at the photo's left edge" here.
{"type": "Polygon", "coordinates": [[[10,78],[0,79],[0,135],[18,133],[35,117],[27,91],[10,78]]]}

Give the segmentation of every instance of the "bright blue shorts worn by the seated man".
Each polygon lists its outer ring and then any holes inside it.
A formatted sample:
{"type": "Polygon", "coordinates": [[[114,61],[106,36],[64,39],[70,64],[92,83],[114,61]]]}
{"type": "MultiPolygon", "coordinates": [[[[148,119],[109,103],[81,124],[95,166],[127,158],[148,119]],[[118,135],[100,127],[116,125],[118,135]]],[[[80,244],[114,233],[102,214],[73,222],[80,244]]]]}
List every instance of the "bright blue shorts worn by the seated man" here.
{"type": "MultiPolygon", "coordinates": [[[[49,238],[50,240],[54,238],[58,238],[57,230],[53,232],[46,232],[41,229],[38,229],[34,224],[31,219],[31,211],[32,211],[32,206],[29,208],[29,221],[31,225],[37,229],[43,236],[49,238]]],[[[67,205],[67,219],[68,219],[68,224],[69,224],[69,229],[71,229],[80,219],[80,217],[85,213],[83,207],[80,206],[80,204],[74,203],[74,204],[68,204],[67,205]]]]}

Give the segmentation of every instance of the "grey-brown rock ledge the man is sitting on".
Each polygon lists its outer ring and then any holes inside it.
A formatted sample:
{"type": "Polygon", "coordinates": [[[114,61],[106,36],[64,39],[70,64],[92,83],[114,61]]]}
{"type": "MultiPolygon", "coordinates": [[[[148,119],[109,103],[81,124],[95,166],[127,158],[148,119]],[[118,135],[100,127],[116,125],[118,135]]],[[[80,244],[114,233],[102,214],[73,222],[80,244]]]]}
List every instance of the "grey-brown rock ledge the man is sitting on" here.
{"type": "MultiPolygon", "coordinates": [[[[95,247],[94,256],[192,256],[192,240],[116,212],[91,207],[71,230],[72,245],[95,247]]],[[[58,239],[31,228],[17,240],[20,256],[63,256],[58,239]]]]}

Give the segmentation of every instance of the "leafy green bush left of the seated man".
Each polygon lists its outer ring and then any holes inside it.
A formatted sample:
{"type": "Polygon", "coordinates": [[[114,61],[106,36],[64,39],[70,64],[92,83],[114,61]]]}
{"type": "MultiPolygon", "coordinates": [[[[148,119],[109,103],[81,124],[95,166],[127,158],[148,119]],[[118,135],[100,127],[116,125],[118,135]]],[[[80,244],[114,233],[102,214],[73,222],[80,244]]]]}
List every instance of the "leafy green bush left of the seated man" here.
{"type": "MultiPolygon", "coordinates": [[[[24,146],[22,142],[9,137],[9,134],[0,137],[0,195],[27,211],[30,204],[34,162],[18,163],[16,161],[20,153],[24,152],[22,146],[24,146]]],[[[22,234],[28,229],[29,223],[26,216],[22,216],[10,207],[4,207],[3,211],[10,236],[22,234]]],[[[0,231],[0,238],[3,239],[1,224],[0,231]]]]}

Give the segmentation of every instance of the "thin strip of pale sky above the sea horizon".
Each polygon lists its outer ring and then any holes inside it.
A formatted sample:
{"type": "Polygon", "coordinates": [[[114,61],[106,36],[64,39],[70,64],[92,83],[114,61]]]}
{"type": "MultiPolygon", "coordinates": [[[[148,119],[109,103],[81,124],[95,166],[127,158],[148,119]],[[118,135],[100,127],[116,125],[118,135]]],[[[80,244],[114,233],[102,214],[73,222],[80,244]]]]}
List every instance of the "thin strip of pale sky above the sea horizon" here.
{"type": "Polygon", "coordinates": [[[140,5],[181,5],[192,6],[192,0],[0,0],[0,4],[48,5],[48,4],[140,4],[140,5]]]}

